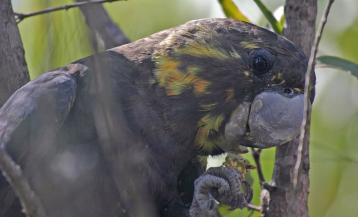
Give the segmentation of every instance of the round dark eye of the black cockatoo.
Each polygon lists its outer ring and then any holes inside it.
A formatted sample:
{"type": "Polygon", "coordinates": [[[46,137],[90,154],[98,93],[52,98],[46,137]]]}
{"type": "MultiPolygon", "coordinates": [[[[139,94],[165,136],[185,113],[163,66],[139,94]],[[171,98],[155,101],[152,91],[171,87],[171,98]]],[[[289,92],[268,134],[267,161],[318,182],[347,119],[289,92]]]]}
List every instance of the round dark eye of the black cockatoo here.
{"type": "Polygon", "coordinates": [[[255,50],[251,54],[251,69],[255,74],[262,75],[270,71],[273,64],[272,54],[267,50],[255,50]]]}

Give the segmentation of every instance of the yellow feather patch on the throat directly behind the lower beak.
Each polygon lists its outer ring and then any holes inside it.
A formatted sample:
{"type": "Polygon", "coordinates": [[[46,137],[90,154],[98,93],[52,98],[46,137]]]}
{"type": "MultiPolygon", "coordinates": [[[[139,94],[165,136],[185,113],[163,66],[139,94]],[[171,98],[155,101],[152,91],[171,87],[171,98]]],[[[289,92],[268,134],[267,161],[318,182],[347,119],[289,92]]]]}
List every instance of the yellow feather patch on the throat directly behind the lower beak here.
{"type": "Polygon", "coordinates": [[[212,130],[219,131],[224,118],[223,114],[218,116],[206,114],[202,117],[198,122],[198,133],[195,136],[195,144],[207,151],[211,151],[220,142],[221,138],[209,139],[209,135],[212,130]]]}

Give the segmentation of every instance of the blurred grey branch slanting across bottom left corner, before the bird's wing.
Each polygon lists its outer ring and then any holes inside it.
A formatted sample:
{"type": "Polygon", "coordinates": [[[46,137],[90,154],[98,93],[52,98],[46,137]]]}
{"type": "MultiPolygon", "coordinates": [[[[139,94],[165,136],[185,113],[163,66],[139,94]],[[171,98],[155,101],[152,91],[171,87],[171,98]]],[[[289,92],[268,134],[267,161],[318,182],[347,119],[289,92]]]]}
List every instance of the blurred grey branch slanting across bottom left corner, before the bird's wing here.
{"type": "MultiPolygon", "coordinates": [[[[2,145],[1,147],[4,146],[2,145]]],[[[23,176],[20,166],[16,165],[3,148],[0,148],[0,169],[19,197],[26,216],[46,217],[42,203],[35,192],[32,191],[27,179],[23,176]]]]}

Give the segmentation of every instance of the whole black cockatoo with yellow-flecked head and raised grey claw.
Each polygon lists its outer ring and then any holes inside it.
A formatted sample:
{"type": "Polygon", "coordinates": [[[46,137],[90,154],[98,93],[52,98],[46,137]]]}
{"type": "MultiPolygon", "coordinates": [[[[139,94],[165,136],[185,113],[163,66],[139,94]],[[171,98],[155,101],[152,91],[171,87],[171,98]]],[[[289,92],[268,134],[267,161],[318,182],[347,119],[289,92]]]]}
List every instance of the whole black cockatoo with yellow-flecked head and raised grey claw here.
{"type": "MultiPolygon", "coordinates": [[[[190,21],[20,88],[0,109],[1,148],[50,217],[209,216],[215,199],[243,208],[250,185],[229,168],[205,172],[203,159],[296,137],[307,61],[253,24],[190,21]]],[[[0,183],[0,213],[21,216],[0,183]]]]}

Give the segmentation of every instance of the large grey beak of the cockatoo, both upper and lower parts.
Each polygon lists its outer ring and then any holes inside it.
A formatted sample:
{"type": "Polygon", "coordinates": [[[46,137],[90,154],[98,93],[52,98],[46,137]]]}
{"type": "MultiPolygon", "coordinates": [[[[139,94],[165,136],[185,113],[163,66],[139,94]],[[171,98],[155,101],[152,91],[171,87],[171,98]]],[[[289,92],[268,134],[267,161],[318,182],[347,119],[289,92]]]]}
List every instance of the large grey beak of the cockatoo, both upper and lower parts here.
{"type": "Polygon", "coordinates": [[[275,92],[258,94],[252,103],[244,102],[234,110],[221,148],[244,153],[244,147],[270,148],[289,142],[300,133],[303,107],[303,94],[292,98],[275,92]]]}

